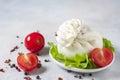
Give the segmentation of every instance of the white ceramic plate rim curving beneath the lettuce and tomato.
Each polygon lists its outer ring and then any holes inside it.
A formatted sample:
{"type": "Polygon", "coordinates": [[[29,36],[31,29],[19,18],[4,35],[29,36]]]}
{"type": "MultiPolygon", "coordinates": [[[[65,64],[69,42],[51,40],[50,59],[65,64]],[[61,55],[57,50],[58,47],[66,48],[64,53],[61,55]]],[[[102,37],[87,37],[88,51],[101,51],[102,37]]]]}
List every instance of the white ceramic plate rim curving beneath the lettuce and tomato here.
{"type": "Polygon", "coordinates": [[[99,71],[105,70],[105,69],[107,69],[108,67],[110,67],[110,66],[112,65],[112,63],[114,62],[114,59],[115,59],[115,55],[113,55],[113,60],[112,60],[112,62],[111,62],[109,65],[107,65],[107,66],[105,66],[105,67],[102,67],[102,68],[96,68],[96,69],[79,69],[79,68],[75,68],[75,67],[66,67],[66,66],[64,65],[64,63],[60,63],[60,62],[58,62],[57,60],[55,60],[55,59],[52,57],[51,53],[49,53],[49,55],[50,55],[50,57],[52,58],[52,60],[53,60],[56,64],[58,64],[59,66],[61,66],[62,68],[67,69],[67,70],[71,70],[71,71],[74,71],[74,72],[81,72],[81,73],[93,73],[93,72],[99,72],[99,71]]]}

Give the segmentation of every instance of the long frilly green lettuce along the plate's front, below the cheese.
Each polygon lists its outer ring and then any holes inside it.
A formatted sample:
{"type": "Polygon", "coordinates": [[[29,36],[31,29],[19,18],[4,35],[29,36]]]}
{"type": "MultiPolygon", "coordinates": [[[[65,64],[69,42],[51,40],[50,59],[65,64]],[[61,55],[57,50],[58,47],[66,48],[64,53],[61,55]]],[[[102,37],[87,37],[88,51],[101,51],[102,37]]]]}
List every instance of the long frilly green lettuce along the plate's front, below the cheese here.
{"type": "Polygon", "coordinates": [[[55,45],[52,42],[48,42],[48,45],[50,48],[50,53],[54,59],[56,59],[59,62],[64,62],[65,66],[69,67],[76,67],[81,69],[90,69],[90,68],[96,68],[96,65],[92,62],[92,60],[88,57],[86,53],[77,54],[70,58],[67,56],[64,56],[62,53],[58,52],[57,45],[55,45]]]}

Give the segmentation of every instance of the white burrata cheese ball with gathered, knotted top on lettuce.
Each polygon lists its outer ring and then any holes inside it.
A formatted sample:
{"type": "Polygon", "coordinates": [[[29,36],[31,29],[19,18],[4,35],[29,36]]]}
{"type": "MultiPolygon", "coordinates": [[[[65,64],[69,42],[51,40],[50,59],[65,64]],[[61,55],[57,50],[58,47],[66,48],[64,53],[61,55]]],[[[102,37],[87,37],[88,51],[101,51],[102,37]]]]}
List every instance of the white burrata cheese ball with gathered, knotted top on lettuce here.
{"type": "Polygon", "coordinates": [[[57,31],[56,41],[58,51],[67,57],[103,47],[101,35],[79,19],[64,22],[57,31]]]}

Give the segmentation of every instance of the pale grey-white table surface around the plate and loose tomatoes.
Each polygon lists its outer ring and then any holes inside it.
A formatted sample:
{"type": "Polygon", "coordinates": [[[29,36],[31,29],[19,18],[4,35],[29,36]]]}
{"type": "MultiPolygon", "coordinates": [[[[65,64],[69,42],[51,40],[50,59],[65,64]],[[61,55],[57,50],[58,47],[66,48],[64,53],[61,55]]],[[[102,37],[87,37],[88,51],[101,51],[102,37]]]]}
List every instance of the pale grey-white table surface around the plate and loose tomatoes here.
{"type": "Polygon", "coordinates": [[[18,52],[27,53],[28,50],[20,42],[24,41],[28,33],[39,30],[45,37],[45,48],[39,59],[42,68],[30,73],[36,80],[80,80],[74,78],[76,72],[68,73],[56,65],[49,57],[48,41],[56,42],[54,33],[65,20],[78,18],[99,31],[103,37],[110,39],[116,49],[115,61],[108,69],[86,74],[81,80],[120,80],[120,0],[0,0],[0,80],[24,80],[23,72],[9,68],[4,63],[11,59],[16,63],[18,52]],[[16,38],[16,36],[19,38],[16,38]],[[10,54],[10,50],[18,45],[17,51],[10,54]],[[51,62],[45,63],[44,59],[51,62]]]}

